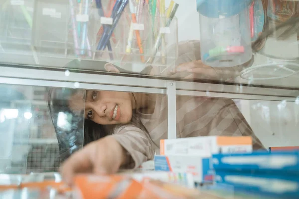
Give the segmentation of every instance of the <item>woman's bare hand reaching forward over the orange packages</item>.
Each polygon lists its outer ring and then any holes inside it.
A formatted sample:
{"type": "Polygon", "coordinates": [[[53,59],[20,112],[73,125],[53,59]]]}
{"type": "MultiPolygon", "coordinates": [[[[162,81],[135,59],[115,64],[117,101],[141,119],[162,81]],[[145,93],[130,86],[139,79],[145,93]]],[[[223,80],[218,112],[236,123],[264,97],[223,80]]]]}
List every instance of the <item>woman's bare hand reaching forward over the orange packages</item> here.
{"type": "Polygon", "coordinates": [[[126,162],[125,149],[111,136],[91,142],[67,159],[61,174],[69,185],[75,173],[111,174],[126,162]]]}

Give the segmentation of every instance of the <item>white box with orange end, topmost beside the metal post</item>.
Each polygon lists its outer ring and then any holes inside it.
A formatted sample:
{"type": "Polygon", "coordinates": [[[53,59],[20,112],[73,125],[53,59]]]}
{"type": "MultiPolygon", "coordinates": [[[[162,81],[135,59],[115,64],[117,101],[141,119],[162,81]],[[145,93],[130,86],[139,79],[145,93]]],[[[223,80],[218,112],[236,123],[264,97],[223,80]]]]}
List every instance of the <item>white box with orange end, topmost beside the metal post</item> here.
{"type": "Polygon", "coordinates": [[[205,136],[160,140],[160,155],[211,156],[217,153],[252,152],[250,136],[205,136]]]}

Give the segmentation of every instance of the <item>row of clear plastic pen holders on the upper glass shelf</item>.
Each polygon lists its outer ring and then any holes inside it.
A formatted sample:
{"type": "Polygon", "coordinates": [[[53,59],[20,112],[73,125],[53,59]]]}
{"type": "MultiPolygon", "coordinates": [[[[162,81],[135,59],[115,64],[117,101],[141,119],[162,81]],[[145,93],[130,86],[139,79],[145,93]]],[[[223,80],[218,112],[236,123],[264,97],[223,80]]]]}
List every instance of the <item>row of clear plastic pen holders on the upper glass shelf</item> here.
{"type": "Polygon", "coordinates": [[[34,56],[34,59],[18,58],[20,64],[41,65],[45,58],[81,59],[107,61],[128,71],[134,65],[135,72],[149,65],[159,66],[162,70],[175,65],[177,19],[160,15],[152,17],[146,5],[135,14],[133,21],[128,4],[122,12],[112,15],[112,0],[101,1],[102,13],[97,5],[99,1],[7,2],[0,3],[0,50],[11,57],[3,57],[3,62],[9,63],[14,60],[12,55],[17,54],[19,57],[34,56]],[[23,13],[24,8],[27,14],[23,13]],[[100,41],[108,42],[100,44],[100,41]],[[129,42],[130,50],[127,49],[129,42]]]}

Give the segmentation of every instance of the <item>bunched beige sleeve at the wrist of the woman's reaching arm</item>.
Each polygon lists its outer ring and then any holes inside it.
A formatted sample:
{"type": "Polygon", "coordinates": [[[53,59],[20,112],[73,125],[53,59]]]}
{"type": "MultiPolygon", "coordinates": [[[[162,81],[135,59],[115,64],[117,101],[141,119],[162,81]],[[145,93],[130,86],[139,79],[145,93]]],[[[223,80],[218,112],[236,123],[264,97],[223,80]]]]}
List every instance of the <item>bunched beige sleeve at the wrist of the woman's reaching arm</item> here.
{"type": "Polygon", "coordinates": [[[112,136],[130,154],[131,161],[122,168],[135,169],[143,162],[153,159],[153,143],[149,135],[138,127],[131,124],[121,126],[112,136]]]}

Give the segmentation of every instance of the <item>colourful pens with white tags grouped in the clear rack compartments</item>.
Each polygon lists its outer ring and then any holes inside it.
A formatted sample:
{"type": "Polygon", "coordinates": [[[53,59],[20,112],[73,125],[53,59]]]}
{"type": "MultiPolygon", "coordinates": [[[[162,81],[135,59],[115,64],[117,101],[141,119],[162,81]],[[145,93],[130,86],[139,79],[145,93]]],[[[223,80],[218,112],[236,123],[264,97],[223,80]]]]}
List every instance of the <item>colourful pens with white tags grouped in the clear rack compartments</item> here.
{"type": "MultiPolygon", "coordinates": [[[[170,33],[170,25],[179,6],[174,1],[170,2],[167,10],[165,0],[69,0],[69,3],[77,56],[107,61],[108,52],[108,59],[114,63],[152,64],[160,49],[160,63],[167,63],[168,37],[165,34],[170,33]],[[130,12],[126,10],[127,4],[130,12]],[[93,8],[96,12],[92,11],[93,8]],[[99,21],[100,27],[97,26],[99,21]],[[99,28],[97,32],[92,31],[95,27],[99,28]],[[130,58],[129,61],[124,59],[125,56],[130,58]]],[[[176,31],[173,33],[176,35],[176,31]]]]}

